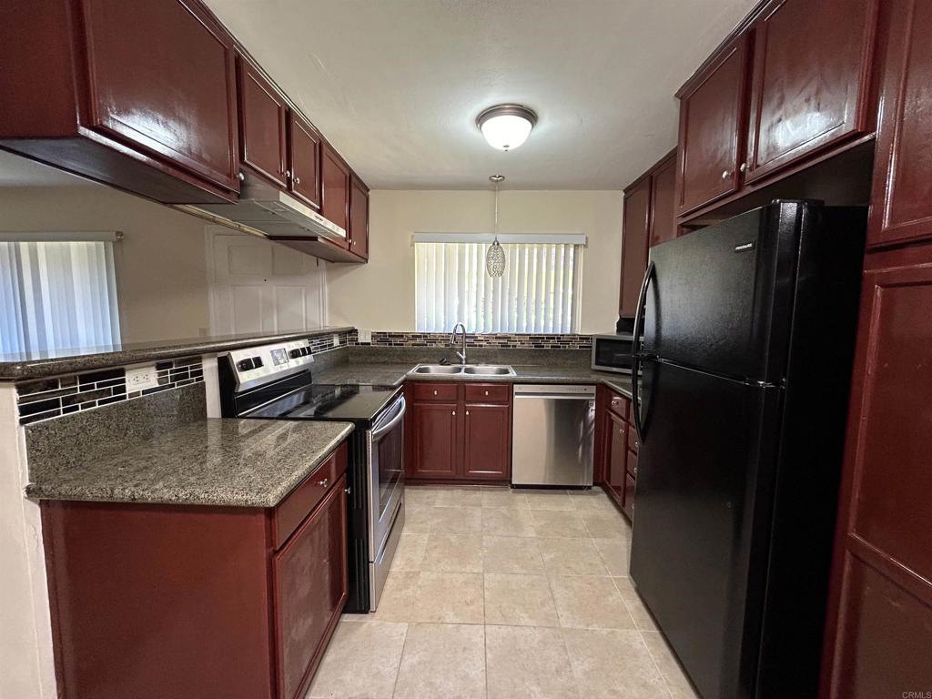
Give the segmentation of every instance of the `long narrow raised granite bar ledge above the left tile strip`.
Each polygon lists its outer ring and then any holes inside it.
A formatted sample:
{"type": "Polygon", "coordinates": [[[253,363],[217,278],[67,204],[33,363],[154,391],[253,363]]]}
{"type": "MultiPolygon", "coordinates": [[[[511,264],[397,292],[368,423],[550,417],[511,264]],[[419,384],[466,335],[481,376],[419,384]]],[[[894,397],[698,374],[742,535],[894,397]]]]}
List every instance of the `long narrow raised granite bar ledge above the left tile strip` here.
{"type": "Polygon", "coordinates": [[[17,352],[0,354],[0,380],[52,377],[107,366],[140,362],[159,362],[192,354],[226,352],[230,349],[254,347],[270,342],[289,342],[318,335],[331,335],[352,330],[351,326],[323,327],[300,333],[265,333],[255,335],[223,335],[191,337],[158,342],[133,342],[104,347],[81,347],[56,351],[17,352]]]}

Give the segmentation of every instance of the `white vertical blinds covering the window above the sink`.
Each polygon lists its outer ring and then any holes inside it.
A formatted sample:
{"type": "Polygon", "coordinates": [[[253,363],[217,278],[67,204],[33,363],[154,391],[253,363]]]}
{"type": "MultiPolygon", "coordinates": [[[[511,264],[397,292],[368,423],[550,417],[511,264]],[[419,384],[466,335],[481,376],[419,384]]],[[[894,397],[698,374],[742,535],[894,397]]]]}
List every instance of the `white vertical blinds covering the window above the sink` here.
{"type": "Polygon", "coordinates": [[[415,235],[416,327],[470,333],[575,333],[584,236],[500,235],[505,273],[486,272],[486,235],[415,235]],[[480,240],[473,242],[473,240],[480,240]]]}

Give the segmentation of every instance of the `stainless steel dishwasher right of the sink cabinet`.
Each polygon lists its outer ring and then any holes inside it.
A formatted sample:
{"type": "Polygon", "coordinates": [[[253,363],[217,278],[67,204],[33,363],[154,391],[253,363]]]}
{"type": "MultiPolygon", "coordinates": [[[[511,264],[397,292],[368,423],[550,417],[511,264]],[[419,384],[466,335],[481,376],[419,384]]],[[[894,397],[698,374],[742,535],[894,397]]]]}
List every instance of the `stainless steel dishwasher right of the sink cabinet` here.
{"type": "Polygon", "coordinates": [[[596,387],[516,384],[512,485],[592,486],[596,387]]]}

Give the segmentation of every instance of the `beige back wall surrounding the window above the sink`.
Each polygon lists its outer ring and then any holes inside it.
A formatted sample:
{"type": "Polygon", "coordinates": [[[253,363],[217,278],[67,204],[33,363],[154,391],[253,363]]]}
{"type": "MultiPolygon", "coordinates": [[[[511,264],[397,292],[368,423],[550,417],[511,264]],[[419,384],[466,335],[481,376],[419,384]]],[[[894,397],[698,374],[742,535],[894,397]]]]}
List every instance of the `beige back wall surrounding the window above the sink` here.
{"type": "MultiPolygon", "coordinates": [[[[415,329],[414,249],[411,234],[487,233],[488,191],[371,193],[370,262],[328,271],[330,322],[363,330],[415,329]]],[[[583,233],[583,333],[613,332],[618,318],[622,246],[620,191],[504,191],[501,233],[583,233]]]]}

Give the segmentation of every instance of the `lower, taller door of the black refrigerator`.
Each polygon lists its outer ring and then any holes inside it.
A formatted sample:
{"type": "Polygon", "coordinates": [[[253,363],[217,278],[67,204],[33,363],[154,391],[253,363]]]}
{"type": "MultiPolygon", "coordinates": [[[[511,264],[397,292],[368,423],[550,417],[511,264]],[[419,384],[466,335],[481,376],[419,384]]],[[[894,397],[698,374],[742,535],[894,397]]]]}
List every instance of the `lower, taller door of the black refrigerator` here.
{"type": "Polygon", "coordinates": [[[643,372],[631,578],[703,699],[751,696],[781,391],[643,372]]]}

